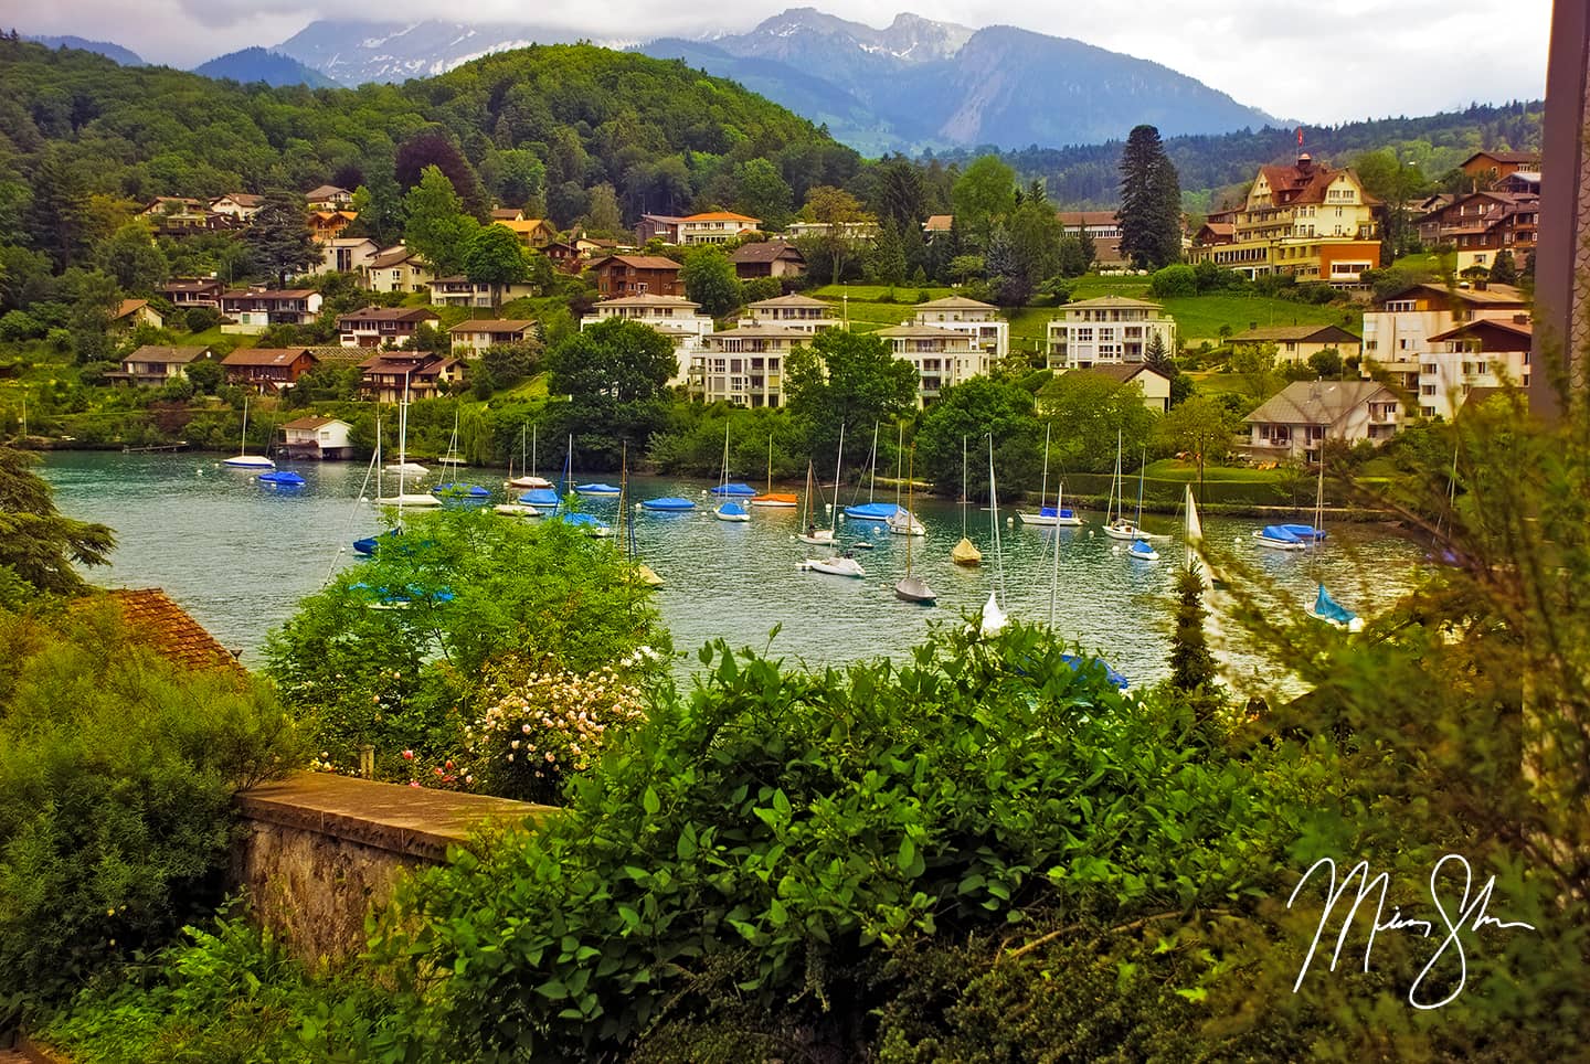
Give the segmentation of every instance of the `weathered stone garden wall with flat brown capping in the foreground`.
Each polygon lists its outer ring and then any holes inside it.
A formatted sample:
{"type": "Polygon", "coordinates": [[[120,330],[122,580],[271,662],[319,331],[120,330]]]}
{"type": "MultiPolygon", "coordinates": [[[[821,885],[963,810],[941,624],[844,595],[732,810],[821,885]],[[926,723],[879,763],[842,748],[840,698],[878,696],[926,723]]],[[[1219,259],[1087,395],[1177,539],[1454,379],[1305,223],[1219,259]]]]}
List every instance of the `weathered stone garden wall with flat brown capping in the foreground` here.
{"type": "Polygon", "coordinates": [[[301,773],[238,795],[232,884],[313,965],[364,948],[364,916],[407,872],[442,864],[485,821],[533,824],[549,806],[301,773]]]}

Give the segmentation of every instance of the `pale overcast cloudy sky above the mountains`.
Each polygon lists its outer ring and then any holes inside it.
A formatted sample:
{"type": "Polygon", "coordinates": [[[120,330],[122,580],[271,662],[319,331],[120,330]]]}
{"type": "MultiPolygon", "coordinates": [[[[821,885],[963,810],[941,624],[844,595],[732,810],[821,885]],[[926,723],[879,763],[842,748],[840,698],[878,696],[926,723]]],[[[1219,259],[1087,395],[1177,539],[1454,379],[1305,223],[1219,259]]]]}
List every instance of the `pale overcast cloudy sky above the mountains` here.
{"type": "MultiPolygon", "coordinates": [[[[315,19],[533,22],[631,41],[743,32],[792,2],[642,0],[0,0],[0,25],[124,45],[194,67],[273,46],[315,19]]],[[[930,19],[1073,37],[1153,59],[1242,103],[1305,122],[1426,115],[1471,100],[1545,94],[1550,0],[852,0],[816,3],[870,25],[909,10],[930,19]]]]}

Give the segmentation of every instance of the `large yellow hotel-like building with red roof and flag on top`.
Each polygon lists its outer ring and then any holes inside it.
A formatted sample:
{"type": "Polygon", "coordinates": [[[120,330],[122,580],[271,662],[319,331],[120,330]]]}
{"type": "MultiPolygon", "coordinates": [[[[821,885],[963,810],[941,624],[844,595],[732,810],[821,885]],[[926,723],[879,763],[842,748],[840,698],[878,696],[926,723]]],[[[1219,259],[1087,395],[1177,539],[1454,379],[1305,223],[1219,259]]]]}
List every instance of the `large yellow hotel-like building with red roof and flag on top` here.
{"type": "Polygon", "coordinates": [[[1304,153],[1289,167],[1259,167],[1247,202],[1231,213],[1231,239],[1192,243],[1188,261],[1250,278],[1286,274],[1356,288],[1380,266],[1379,207],[1356,173],[1304,153]]]}

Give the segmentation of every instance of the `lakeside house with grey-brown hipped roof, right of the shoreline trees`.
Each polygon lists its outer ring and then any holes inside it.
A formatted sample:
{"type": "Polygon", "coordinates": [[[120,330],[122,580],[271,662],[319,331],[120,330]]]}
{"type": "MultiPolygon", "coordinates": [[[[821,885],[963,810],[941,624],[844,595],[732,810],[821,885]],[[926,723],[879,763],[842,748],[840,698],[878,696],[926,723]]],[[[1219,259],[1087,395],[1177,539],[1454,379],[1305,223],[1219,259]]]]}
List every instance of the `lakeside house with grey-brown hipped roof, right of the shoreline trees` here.
{"type": "Polygon", "coordinates": [[[1383,444],[1402,423],[1396,393],[1374,380],[1294,380],[1247,418],[1253,458],[1320,461],[1326,439],[1383,444]]]}

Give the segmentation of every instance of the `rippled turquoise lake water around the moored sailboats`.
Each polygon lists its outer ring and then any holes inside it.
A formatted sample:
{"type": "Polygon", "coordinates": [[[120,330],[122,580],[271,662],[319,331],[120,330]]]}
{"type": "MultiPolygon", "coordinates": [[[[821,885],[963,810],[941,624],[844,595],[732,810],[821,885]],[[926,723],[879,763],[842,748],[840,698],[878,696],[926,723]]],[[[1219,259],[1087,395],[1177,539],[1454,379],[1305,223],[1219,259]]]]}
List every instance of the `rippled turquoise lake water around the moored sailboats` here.
{"type": "MultiPolygon", "coordinates": [[[[307,487],[264,487],[254,472],[221,466],[215,455],[57,453],[46,458],[41,472],[65,514],[116,530],[113,563],[94,571],[94,582],[164,587],[226,646],[242,650],[245,662],[258,663],[266,633],[355,560],[350,542],[377,531],[380,517],[374,504],[359,501],[361,493],[375,498],[363,464],[281,468],[302,474],[307,487]]],[[[498,487],[502,476],[501,469],[472,469],[461,479],[498,487]]],[[[576,480],[585,479],[603,476],[576,472],[576,480]]],[[[750,522],[725,523],[712,518],[704,480],[636,477],[631,487],[633,499],[698,499],[698,509],[687,514],[634,514],[641,560],[666,581],[657,604],[681,650],[727,638],[735,646],[770,646],[811,666],[900,657],[925,638],[930,622],[981,608],[1000,581],[986,511],[968,514],[968,534],[984,565],[964,569],[949,560],[960,539],[959,507],[916,499],[927,536],[911,542],[911,565],[940,596],[935,608],[924,608],[894,596],[894,584],[906,571],[906,538],[886,534],[881,525],[840,523],[841,544],[873,544],[857,550],[865,579],[801,573],[798,563],[817,549],[795,539],[798,511],[752,507],[750,522]],[[774,627],[779,631],[770,644],[774,627]]],[[[394,477],[386,477],[385,490],[396,491],[394,477]]],[[[879,493],[879,499],[894,496],[879,493]]],[[[841,504],[854,501],[865,501],[865,493],[855,499],[846,490],[841,504]]],[[[588,499],[585,507],[615,520],[615,499],[588,499]]],[[[1000,603],[1013,615],[1046,620],[1056,530],[1006,525],[1010,517],[1000,515],[1000,603]]],[[[1099,531],[1100,514],[1083,517],[1083,528],[1059,530],[1056,623],[1134,684],[1159,679],[1167,673],[1180,522],[1145,517],[1150,531],[1173,533],[1156,541],[1164,558],[1145,563],[1127,558],[1126,544],[1099,531]]],[[[1328,546],[1310,561],[1251,547],[1255,520],[1207,518],[1204,525],[1212,542],[1232,544],[1255,558],[1293,604],[1313,601],[1315,571],[1350,608],[1383,603],[1407,584],[1418,555],[1374,526],[1331,530],[1328,546]]]]}

